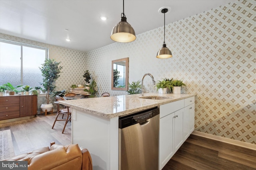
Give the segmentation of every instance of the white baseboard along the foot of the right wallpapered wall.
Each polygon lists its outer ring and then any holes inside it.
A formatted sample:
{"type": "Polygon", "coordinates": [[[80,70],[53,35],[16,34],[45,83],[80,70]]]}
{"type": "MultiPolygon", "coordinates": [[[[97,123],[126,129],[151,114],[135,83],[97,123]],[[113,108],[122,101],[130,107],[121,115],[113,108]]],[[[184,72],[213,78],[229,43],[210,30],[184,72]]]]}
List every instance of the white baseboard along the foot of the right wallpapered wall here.
{"type": "Polygon", "coordinates": [[[212,135],[212,134],[204,133],[204,132],[198,132],[198,131],[193,131],[191,134],[197,135],[197,136],[200,136],[200,137],[205,137],[205,138],[208,138],[208,139],[212,139],[212,140],[215,140],[215,141],[228,143],[228,144],[231,144],[231,145],[236,145],[238,147],[244,147],[244,148],[247,148],[247,149],[256,150],[256,145],[251,144],[251,143],[236,141],[234,139],[228,139],[226,137],[220,137],[220,136],[216,136],[216,135],[212,135]]]}

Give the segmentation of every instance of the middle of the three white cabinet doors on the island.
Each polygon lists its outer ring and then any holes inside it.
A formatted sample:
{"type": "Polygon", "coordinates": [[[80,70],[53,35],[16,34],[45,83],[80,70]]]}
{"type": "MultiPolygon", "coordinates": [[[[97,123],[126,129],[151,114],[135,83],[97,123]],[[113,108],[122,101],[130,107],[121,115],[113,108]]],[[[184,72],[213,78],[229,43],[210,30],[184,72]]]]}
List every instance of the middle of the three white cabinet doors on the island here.
{"type": "Polygon", "coordinates": [[[184,109],[174,113],[174,152],[176,152],[183,143],[183,112],[184,109]]]}

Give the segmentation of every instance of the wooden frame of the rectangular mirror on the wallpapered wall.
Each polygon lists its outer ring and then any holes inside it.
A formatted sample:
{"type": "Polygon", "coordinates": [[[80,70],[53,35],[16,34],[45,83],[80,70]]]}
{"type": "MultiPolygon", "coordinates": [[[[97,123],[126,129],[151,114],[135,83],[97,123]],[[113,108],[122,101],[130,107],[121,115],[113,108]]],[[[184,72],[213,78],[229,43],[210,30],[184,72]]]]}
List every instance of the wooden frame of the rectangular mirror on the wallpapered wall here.
{"type": "Polygon", "coordinates": [[[128,68],[129,68],[129,59],[124,58],[124,59],[118,59],[118,60],[113,60],[112,61],[112,71],[111,71],[111,89],[112,90],[128,90],[128,68]],[[125,61],[125,88],[118,88],[118,87],[114,87],[114,75],[113,75],[113,70],[114,70],[114,63],[120,62],[120,61],[125,61]]]}

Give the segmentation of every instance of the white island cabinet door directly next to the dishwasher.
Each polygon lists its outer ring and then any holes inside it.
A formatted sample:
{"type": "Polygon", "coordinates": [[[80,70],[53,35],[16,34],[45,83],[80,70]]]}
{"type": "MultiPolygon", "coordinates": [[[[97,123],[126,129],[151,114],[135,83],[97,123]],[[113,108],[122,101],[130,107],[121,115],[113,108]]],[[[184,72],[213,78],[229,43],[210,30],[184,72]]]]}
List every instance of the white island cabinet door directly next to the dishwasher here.
{"type": "MultiPolygon", "coordinates": [[[[161,111],[161,110],[160,110],[161,111]]],[[[160,119],[159,127],[159,169],[164,168],[164,165],[174,155],[173,150],[173,118],[174,113],[171,113],[160,119]]]]}

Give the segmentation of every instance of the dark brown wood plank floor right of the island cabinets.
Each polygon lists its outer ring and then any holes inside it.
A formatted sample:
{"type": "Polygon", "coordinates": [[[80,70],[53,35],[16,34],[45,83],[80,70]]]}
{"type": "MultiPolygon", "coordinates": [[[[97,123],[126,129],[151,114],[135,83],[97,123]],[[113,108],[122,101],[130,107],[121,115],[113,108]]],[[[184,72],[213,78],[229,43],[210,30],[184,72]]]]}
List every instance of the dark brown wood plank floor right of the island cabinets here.
{"type": "Polygon", "coordinates": [[[256,150],[190,135],[162,170],[256,170],[256,150]]]}

